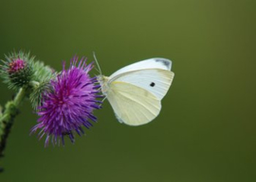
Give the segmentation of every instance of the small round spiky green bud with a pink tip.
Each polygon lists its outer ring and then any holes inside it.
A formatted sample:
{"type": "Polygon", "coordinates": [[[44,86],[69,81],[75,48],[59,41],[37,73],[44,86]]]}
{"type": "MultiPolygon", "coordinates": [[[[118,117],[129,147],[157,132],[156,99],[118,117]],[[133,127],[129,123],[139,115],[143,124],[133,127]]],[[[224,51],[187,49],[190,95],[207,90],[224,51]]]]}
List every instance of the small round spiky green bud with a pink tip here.
{"type": "Polygon", "coordinates": [[[30,66],[32,59],[29,58],[29,54],[19,52],[12,53],[6,56],[6,60],[2,60],[4,64],[1,66],[0,74],[10,89],[19,89],[29,85],[33,74],[30,66]]]}

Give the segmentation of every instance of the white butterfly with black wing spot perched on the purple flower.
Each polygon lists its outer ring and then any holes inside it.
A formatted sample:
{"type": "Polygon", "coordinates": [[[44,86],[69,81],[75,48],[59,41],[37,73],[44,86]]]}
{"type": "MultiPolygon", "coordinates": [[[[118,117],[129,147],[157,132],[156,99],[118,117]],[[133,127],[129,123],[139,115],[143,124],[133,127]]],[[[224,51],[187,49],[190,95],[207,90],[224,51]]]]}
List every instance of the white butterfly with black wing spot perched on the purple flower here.
{"type": "Polygon", "coordinates": [[[109,77],[98,76],[101,91],[120,123],[141,125],[155,119],[174,78],[171,67],[169,59],[150,58],[125,66],[109,77]]]}

